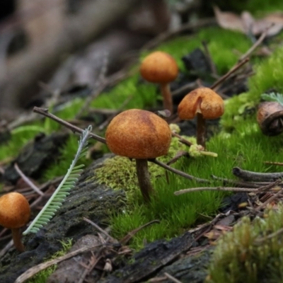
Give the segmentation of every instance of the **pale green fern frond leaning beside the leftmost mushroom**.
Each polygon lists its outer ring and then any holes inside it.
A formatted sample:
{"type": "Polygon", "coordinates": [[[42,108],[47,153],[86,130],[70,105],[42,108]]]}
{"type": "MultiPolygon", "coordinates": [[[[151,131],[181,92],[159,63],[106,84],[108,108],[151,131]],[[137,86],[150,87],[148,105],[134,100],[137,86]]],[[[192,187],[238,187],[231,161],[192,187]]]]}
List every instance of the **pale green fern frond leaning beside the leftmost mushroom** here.
{"type": "Polygon", "coordinates": [[[78,151],[76,151],[76,156],[74,160],[71,162],[71,166],[69,167],[67,174],[64,176],[64,179],[59,184],[53,195],[50,197],[50,200],[45,204],[39,214],[35,217],[33,222],[28,226],[23,232],[23,235],[28,233],[37,233],[37,231],[42,228],[47,222],[52,219],[57,209],[62,206],[67,195],[69,195],[69,191],[74,187],[76,181],[78,180],[81,172],[83,171],[83,164],[76,166],[76,162],[84,155],[86,155],[87,144],[89,133],[91,132],[92,127],[88,126],[87,129],[83,131],[81,137],[79,139],[78,151]]]}

